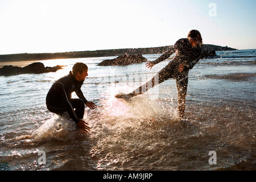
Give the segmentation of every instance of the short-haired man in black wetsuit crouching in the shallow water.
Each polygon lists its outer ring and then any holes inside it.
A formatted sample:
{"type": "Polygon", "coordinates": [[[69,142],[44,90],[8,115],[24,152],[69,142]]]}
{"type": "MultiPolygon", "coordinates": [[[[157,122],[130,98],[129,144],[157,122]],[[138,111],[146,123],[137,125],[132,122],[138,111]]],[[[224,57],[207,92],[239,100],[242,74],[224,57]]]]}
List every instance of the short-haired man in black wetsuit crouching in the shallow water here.
{"type": "Polygon", "coordinates": [[[46,97],[46,105],[49,111],[60,115],[67,111],[83,131],[90,130],[88,123],[82,120],[84,117],[84,105],[90,109],[96,108],[93,102],[86,100],[81,91],[81,86],[86,76],[88,76],[87,65],[76,63],[69,75],[60,78],[52,85],[46,97]],[[76,92],[79,98],[71,98],[72,92],[76,92]]]}

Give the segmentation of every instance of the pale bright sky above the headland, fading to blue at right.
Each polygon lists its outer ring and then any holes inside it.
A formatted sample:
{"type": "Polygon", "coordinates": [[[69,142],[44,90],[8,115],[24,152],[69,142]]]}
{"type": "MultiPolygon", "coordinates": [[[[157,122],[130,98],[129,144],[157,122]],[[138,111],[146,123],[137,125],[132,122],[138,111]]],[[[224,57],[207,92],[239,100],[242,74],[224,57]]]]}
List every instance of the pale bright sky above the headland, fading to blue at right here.
{"type": "Polygon", "coordinates": [[[205,44],[256,49],[255,0],[0,0],[0,55],[205,44]]]}

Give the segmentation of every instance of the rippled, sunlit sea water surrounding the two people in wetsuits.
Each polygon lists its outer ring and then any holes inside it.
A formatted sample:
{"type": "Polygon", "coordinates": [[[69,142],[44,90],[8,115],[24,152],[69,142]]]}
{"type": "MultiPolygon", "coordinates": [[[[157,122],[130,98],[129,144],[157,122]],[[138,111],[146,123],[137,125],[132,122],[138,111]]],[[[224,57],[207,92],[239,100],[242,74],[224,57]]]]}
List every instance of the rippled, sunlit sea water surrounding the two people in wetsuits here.
{"type": "MultiPolygon", "coordinates": [[[[67,66],[0,76],[0,170],[255,170],[256,49],[216,53],[189,71],[184,121],[177,121],[175,80],[129,101],[114,97],[171,59],[151,70],[144,63],[97,66],[114,57],[42,60],[46,67],[67,66]],[[76,62],[88,65],[82,92],[98,106],[85,109],[87,134],[45,104],[53,82],[76,62]]],[[[160,55],[143,56],[152,61],[160,55]]]]}

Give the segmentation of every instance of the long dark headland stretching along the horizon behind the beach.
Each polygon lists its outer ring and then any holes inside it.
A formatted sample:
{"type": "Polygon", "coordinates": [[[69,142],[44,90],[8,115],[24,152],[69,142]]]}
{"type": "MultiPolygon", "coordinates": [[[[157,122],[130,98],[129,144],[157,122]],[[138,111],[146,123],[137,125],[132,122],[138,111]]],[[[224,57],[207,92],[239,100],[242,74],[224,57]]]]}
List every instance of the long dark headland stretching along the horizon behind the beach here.
{"type": "MultiPolygon", "coordinates": [[[[49,59],[72,59],[86,57],[107,57],[121,55],[149,55],[160,54],[168,51],[172,46],[152,47],[152,48],[126,48],[126,49],[105,49],[96,51],[73,51],[57,53],[18,53],[9,55],[0,55],[0,62],[8,61],[32,61],[32,60],[49,60],[49,59]]],[[[221,47],[212,44],[204,44],[205,49],[213,51],[233,51],[237,50],[228,46],[221,47]]]]}

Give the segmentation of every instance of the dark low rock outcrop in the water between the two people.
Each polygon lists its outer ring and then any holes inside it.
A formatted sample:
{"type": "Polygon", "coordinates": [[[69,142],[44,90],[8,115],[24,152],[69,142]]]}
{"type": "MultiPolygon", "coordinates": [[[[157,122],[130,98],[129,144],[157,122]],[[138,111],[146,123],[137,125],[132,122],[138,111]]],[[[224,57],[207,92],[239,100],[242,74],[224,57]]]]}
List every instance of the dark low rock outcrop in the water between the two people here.
{"type": "Polygon", "coordinates": [[[104,60],[98,66],[130,65],[146,62],[147,59],[142,55],[123,55],[115,59],[104,60]]]}

